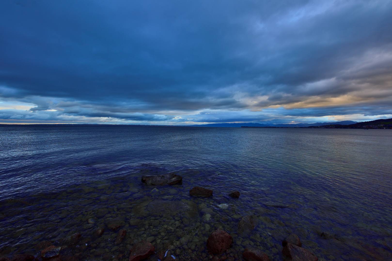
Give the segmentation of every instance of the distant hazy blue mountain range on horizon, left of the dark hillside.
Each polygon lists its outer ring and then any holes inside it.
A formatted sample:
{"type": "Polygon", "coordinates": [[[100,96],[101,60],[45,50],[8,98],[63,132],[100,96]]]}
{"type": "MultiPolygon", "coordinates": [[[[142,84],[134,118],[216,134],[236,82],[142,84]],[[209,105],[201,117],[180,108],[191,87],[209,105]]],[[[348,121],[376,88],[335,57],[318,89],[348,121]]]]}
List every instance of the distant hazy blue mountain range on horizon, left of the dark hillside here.
{"type": "Polygon", "coordinates": [[[316,122],[316,123],[297,123],[297,124],[262,124],[262,123],[212,123],[212,124],[202,124],[202,125],[188,125],[195,127],[289,127],[289,128],[299,128],[299,127],[309,127],[309,126],[323,126],[331,124],[356,124],[356,121],[338,121],[338,122],[316,122]]]}

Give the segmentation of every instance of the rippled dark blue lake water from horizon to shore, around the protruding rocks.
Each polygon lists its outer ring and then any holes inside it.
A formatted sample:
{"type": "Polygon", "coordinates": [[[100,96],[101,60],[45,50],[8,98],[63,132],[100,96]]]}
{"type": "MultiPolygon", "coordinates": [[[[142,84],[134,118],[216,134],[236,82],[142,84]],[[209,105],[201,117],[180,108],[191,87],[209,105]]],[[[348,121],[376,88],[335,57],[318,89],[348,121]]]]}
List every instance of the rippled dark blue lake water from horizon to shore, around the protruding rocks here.
{"type": "Polygon", "coordinates": [[[234,239],[227,260],[242,260],[247,246],[283,260],[291,232],[319,260],[392,260],[391,138],[390,130],[0,127],[0,257],[38,256],[50,241],[63,257],[127,260],[147,239],[176,261],[210,260],[205,242],[223,228],[234,239]],[[182,184],[140,181],[170,172],[182,184]],[[191,197],[194,186],[214,195],[191,197]],[[228,196],[234,190],[240,198],[228,196]],[[245,215],[258,225],[241,234],[245,215]],[[119,229],[127,234],[116,245],[119,229]]]}

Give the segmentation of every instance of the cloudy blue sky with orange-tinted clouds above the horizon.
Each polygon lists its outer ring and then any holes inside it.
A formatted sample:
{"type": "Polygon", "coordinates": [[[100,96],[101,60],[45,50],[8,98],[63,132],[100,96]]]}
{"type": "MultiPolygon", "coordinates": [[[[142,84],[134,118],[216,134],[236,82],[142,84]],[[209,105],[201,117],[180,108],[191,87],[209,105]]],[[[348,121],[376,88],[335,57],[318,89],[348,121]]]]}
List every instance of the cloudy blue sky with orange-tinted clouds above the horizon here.
{"type": "Polygon", "coordinates": [[[0,123],[385,118],[391,0],[0,1],[0,123]]]}

